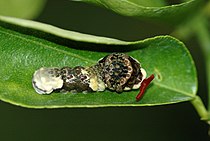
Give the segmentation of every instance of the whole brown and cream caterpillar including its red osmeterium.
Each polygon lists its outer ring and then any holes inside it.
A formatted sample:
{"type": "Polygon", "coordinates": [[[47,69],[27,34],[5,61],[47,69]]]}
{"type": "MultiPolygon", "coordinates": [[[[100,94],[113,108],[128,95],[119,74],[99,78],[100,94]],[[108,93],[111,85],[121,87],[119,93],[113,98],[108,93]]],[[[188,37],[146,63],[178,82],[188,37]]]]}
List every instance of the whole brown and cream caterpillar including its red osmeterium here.
{"type": "Polygon", "coordinates": [[[112,53],[89,67],[42,67],[34,72],[32,85],[38,94],[88,93],[105,89],[122,93],[140,88],[138,101],[153,78],[151,75],[146,79],[146,71],[138,60],[124,53],[112,53]]]}

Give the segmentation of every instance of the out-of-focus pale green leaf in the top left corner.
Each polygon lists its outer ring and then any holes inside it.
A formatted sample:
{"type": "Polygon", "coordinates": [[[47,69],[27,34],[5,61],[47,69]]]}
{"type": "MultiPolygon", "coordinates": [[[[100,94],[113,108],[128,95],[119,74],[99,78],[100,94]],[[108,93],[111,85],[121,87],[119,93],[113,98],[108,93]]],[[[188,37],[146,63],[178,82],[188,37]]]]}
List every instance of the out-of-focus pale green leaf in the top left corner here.
{"type": "Polygon", "coordinates": [[[46,0],[0,0],[0,15],[34,19],[45,3],[46,0]]]}

